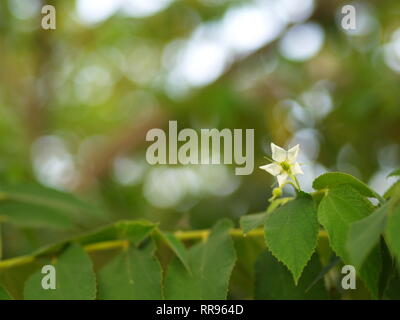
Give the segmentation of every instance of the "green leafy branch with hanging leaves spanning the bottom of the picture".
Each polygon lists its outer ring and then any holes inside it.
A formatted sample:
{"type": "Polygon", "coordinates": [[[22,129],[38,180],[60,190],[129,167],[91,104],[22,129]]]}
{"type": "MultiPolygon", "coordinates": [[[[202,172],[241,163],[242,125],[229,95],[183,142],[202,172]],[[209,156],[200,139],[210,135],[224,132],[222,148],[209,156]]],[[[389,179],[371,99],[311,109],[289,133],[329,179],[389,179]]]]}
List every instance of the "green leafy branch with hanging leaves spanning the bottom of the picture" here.
{"type": "MultiPolygon", "coordinates": [[[[241,229],[228,219],[210,230],[187,232],[119,221],[0,261],[0,299],[227,299],[236,297],[238,284],[245,298],[352,298],[338,280],[340,267],[349,264],[362,297],[396,298],[398,183],[384,198],[343,173],[323,174],[313,187],[313,193],[298,191],[272,200],[265,212],[242,216],[241,229]],[[42,286],[44,265],[56,270],[55,289],[42,286]]],[[[48,226],[67,227],[75,214],[93,209],[58,191],[47,198],[45,191],[3,189],[0,212],[6,223],[44,227],[40,219],[54,211],[69,222],[53,219],[48,226]],[[30,206],[47,211],[25,219],[30,206]],[[9,211],[12,207],[18,209],[9,211]]]]}

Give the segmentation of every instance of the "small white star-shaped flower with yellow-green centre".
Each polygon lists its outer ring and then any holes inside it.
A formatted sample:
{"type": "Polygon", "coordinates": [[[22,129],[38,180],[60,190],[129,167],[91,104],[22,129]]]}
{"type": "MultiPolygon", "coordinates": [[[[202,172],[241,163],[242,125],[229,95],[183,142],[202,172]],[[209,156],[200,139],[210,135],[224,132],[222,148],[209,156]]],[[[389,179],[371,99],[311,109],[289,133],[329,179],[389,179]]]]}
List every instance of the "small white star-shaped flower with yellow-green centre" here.
{"type": "Polygon", "coordinates": [[[273,162],[265,166],[263,169],[278,179],[279,186],[283,186],[290,178],[294,179],[297,174],[303,174],[300,164],[296,162],[300,146],[296,145],[286,151],[281,147],[271,143],[272,160],[273,162]]]}

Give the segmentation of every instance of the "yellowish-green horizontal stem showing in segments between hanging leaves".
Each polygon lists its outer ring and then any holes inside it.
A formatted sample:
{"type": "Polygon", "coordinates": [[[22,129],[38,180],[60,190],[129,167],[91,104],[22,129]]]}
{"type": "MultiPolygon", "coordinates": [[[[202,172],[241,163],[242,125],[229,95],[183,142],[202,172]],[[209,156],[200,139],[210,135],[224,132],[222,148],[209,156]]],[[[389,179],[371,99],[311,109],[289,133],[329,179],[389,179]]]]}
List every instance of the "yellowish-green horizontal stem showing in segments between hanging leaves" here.
{"type": "MultiPolygon", "coordinates": [[[[194,231],[176,231],[174,235],[182,240],[205,240],[210,234],[210,230],[194,230],[194,231]]],[[[243,238],[243,237],[263,237],[264,236],[264,229],[258,228],[249,231],[248,233],[243,233],[241,229],[231,229],[229,234],[233,238],[243,238]]],[[[327,237],[325,231],[320,231],[320,237],[327,237]]],[[[118,248],[126,248],[129,245],[129,240],[111,240],[111,241],[103,241],[98,243],[92,243],[85,245],[83,248],[86,252],[96,252],[96,251],[104,251],[104,250],[112,250],[118,248]]],[[[0,271],[2,269],[8,269],[15,266],[25,265],[35,261],[37,256],[35,255],[26,255],[16,258],[11,258],[7,260],[0,261],[0,271]]]]}

